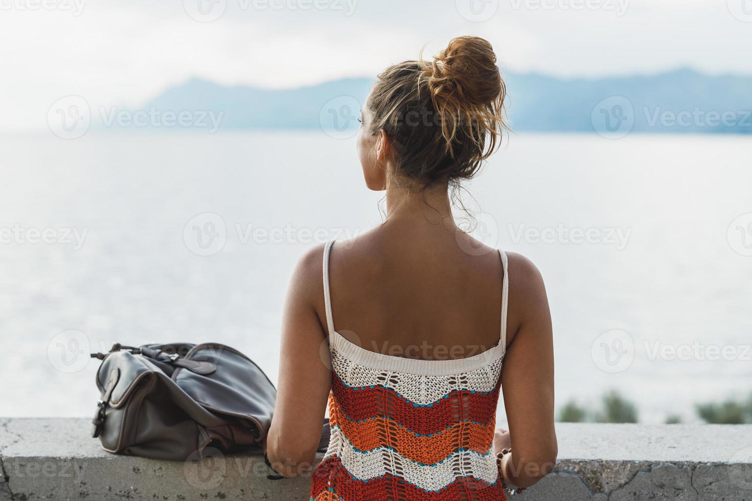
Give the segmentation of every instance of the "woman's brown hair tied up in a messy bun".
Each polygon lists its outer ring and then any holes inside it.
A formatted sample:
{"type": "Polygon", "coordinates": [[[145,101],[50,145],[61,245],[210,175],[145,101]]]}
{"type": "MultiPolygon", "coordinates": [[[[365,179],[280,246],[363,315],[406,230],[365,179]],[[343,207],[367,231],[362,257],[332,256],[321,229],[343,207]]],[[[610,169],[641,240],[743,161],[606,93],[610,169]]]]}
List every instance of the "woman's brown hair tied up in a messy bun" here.
{"type": "Polygon", "coordinates": [[[506,89],[488,41],[460,37],[432,62],[387,68],[368,100],[371,131],[384,130],[400,180],[424,189],[470,179],[501,143],[506,89]]]}

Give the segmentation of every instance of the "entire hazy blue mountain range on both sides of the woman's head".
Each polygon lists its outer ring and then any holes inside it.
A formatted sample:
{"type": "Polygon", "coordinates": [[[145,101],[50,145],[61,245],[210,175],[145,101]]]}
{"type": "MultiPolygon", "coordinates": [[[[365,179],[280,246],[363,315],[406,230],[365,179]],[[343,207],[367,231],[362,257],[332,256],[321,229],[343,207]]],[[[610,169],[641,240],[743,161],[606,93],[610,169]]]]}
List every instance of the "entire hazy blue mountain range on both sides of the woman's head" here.
{"type": "MultiPolygon", "coordinates": [[[[620,134],[752,134],[752,77],[711,77],[692,70],[652,76],[564,80],[505,73],[515,131],[620,134]]],[[[270,90],[189,80],[142,110],[223,113],[222,130],[357,126],[373,80],[350,78],[300,89],[270,90]],[[335,120],[333,123],[331,120],[335,120]]]]}

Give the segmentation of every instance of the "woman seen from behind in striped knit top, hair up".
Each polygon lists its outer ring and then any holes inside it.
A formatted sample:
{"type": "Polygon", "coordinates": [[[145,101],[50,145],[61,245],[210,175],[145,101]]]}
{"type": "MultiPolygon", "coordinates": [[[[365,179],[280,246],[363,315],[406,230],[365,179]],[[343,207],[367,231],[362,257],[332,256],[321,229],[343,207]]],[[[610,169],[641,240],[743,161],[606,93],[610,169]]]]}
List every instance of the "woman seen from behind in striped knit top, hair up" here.
{"type": "Polygon", "coordinates": [[[267,460],[307,472],[328,401],[311,499],[505,499],[553,468],[543,280],[451,210],[499,146],[504,98],[490,44],[462,37],[433,62],[388,68],[366,101],[357,149],[365,185],[387,192],[386,221],[308,252],[284,315],[267,460]],[[510,431],[495,433],[500,389],[510,431]]]}

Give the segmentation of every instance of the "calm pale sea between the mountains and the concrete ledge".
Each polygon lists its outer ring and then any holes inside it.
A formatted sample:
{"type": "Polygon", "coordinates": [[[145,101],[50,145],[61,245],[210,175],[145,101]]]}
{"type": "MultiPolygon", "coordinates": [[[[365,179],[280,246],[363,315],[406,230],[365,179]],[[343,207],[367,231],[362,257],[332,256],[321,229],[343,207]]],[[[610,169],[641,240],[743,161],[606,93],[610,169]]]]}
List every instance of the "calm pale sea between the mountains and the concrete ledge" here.
{"type": "MultiPolygon", "coordinates": [[[[752,213],[750,147],[525,134],[468,186],[476,234],[546,279],[558,406],[613,388],[641,421],[693,421],[695,403],[752,392],[752,220],[735,222],[752,213]]],[[[115,342],[226,343],[276,381],[296,259],[381,222],[353,141],[323,134],[5,136],[0,151],[2,416],[91,415],[98,361],[81,354],[115,342]]]]}

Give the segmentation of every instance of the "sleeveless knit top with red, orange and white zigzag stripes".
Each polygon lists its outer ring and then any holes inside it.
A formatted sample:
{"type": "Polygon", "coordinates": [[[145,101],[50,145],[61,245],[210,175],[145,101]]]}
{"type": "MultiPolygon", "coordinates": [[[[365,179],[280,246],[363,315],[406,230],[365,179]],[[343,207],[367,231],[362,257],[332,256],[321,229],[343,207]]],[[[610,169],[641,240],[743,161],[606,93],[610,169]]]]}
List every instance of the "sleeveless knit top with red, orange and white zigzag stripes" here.
{"type": "Polygon", "coordinates": [[[499,343],[470,358],[427,361],[371,352],[335,330],[332,243],[323,257],[332,438],[314,470],[311,500],[505,499],[493,451],[506,350],[505,252],[499,252],[504,267],[499,343]]]}

